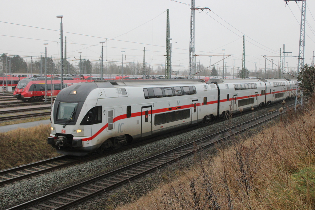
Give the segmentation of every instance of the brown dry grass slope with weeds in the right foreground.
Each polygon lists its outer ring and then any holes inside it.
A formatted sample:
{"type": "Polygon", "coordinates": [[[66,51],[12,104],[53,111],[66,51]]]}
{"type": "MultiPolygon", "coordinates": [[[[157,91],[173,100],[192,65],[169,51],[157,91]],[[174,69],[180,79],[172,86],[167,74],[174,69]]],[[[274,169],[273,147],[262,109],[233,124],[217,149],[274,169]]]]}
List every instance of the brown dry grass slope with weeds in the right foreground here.
{"type": "Polygon", "coordinates": [[[251,139],[234,141],[215,158],[195,155],[194,165],[118,210],[314,209],[314,99],[304,114],[251,139]]]}

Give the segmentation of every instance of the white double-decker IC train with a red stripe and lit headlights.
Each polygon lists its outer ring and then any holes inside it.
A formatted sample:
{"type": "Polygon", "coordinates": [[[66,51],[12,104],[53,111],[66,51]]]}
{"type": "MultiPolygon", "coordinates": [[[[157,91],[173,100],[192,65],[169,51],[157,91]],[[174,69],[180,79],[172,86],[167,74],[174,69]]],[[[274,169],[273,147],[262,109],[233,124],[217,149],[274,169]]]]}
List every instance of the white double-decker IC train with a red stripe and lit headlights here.
{"type": "Polygon", "coordinates": [[[246,110],[289,99],[296,89],[296,80],[286,79],[73,84],[60,91],[54,101],[48,144],[66,155],[102,152],[135,139],[239,112],[240,107],[246,110]]]}

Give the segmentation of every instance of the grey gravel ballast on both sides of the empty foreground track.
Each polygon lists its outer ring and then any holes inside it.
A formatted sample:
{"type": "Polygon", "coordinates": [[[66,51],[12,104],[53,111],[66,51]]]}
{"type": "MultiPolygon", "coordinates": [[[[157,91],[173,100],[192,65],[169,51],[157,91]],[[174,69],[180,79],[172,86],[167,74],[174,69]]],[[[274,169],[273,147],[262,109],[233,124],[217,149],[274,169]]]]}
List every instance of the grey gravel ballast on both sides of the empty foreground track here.
{"type": "MultiPolygon", "coordinates": [[[[273,109],[278,110],[279,107],[280,105],[274,107],[273,109]]],[[[225,122],[199,128],[194,131],[172,136],[167,139],[152,142],[147,145],[105,156],[93,161],[85,162],[83,164],[45,173],[42,176],[38,175],[33,178],[20,180],[9,184],[8,186],[2,186],[0,187],[0,209],[7,209],[14,205],[18,205],[20,203],[37,198],[38,196],[43,196],[55,190],[60,190],[66,186],[70,186],[72,184],[95,177],[112,169],[139,161],[145,157],[153,156],[162,151],[186,144],[193,139],[199,139],[205,135],[216,133],[224,128],[237,125],[239,123],[248,121],[253,117],[267,113],[269,110],[271,110],[271,108],[258,110],[235,119],[227,120],[225,122]]],[[[226,143],[223,142],[221,144],[226,143]]],[[[213,147],[210,148],[209,151],[215,153],[216,149],[213,147]]],[[[191,163],[192,157],[188,157],[181,161],[180,165],[175,163],[169,167],[161,169],[159,172],[166,174],[169,172],[171,174],[172,171],[178,170],[180,167],[189,166],[191,163]]],[[[129,184],[125,184],[116,190],[106,192],[106,194],[104,193],[103,195],[97,196],[94,199],[90,199],[89,201],[74,207],[74,209],[104,209],[106,206],[113,207],[116,205],[116,203],[126,202],[127,200],[130,201],[136,196],[139,197],[143,195],[148,190],[153,189],[160,182],[161,176],[159,173],[154,172],[129,184]]]]}

